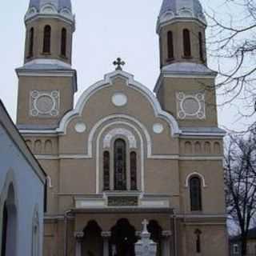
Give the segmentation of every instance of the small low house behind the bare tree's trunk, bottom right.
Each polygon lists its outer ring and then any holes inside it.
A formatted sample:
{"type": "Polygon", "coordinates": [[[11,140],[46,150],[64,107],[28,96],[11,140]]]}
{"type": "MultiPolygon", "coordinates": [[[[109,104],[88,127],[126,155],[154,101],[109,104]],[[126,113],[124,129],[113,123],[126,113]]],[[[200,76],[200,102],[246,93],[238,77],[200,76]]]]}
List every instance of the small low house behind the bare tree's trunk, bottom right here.
{"type": "MultiPolygon", "coordinates": [[[[242,255],[241,237],[235,236],[230,238],[230,256],[242,255]]],[[[249,230],[247,236],[247,254],[248,256],[256,255],[256,227],[249,230]]]]}

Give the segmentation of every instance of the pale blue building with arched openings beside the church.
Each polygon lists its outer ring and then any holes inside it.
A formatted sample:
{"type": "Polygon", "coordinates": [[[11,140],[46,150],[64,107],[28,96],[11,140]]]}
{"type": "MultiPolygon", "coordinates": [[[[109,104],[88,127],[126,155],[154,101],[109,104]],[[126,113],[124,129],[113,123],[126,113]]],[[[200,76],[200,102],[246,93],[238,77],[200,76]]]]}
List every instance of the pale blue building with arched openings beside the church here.
{"type": "Polygon", "coordinates": [[[1,101],[0,145],[0,255],[42,256],[46,174],[1,101]]]}

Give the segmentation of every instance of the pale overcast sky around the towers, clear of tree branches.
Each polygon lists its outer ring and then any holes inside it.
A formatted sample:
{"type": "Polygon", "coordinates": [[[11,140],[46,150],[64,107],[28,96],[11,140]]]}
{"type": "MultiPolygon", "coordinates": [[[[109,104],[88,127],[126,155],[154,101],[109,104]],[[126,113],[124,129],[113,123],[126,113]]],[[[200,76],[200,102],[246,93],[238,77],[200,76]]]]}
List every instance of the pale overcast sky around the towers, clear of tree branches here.
{"type": "MultiPolygon", "coordinates": [[[[218,9],[222,0],[202,0],[204,6],[218,9]]],[[[0,56],[2,61],[0,98],[16,119],[18,79],[14,69],[22,66],[25,41],[24,14],[29,0],[2,1],[0,16],[0,56]]],[[[121,57],[124,70],[153,90],[159,75],[158,35],[155,25],[162,0],[73,0],[76,15],[73,67],[78,70],[78,93],[114,70],[112,62],[121,57]]],[[[210,59],[214,68],[214,60],[210,59]]],[[[222,99],[218,98],[220,102],[222,99]]],[[[236,108],[218,110],[220,126],[241,129],[236,108]]]]}

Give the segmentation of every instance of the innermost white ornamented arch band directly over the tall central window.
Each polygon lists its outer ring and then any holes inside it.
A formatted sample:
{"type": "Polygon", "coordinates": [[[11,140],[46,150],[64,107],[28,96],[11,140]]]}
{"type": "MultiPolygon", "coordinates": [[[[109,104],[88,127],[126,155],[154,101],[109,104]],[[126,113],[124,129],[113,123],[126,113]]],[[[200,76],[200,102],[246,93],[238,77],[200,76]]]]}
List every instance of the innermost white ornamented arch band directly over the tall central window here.
{"type": "Polygon", "coordinates": [[[103,148],[110,148],[112,139],[118,135],[122,135],[127,138],[130,149],[137,148],[137,141],[134,134],[125,128],[114,128],[113,130],[110,130],[103,138],[103,148]]]}

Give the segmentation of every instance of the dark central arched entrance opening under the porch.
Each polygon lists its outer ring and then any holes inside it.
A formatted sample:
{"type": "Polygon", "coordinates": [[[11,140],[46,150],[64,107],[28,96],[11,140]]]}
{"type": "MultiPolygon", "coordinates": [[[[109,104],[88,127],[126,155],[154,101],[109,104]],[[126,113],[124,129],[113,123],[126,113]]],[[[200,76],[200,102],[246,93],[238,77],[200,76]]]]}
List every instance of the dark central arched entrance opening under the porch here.
{"type": "Polygon", "coordinates": [[[121,219],[111,230],[110,256],[134,256],[137,242],[135,229],[127,219],[121,219]]]}

